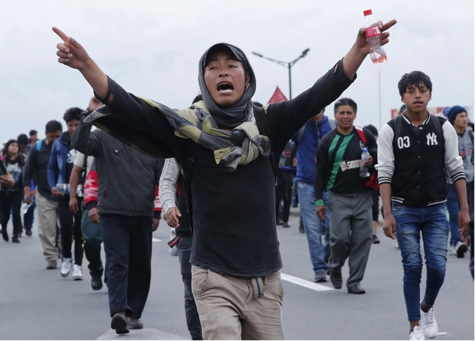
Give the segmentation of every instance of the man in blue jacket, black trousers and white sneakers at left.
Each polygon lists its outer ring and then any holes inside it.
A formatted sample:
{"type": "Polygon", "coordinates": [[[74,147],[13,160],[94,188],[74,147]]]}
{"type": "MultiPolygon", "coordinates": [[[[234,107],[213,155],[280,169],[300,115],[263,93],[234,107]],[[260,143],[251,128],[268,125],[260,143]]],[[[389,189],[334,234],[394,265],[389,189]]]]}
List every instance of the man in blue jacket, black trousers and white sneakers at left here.
{"type": "Polygon", "coordinates": [[[58,215],[60,220],[61,243],[63,244],[63,266],[61,276],[67,277],[72,269],[72,279],[82,279],[82,213],[73,214],[70,211],[70,196],[67,185],[70,182],[71,171],[74,166],[76,151],[71,147],[71,138],[79,125],[82,109],[72,107],[67,109],[63,119],[66,121],[67,131],[61,134],[51,148],[48,162],[48,185],[53,196],[58,198],[58,215]],[[56,186],[64,184],[63,189],[56,186]],[[66,189],[66,190],[65,190],[66,189]],[[74,236],[74,267],[72,265],[72,239],[74,236]]]}

